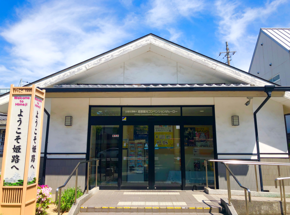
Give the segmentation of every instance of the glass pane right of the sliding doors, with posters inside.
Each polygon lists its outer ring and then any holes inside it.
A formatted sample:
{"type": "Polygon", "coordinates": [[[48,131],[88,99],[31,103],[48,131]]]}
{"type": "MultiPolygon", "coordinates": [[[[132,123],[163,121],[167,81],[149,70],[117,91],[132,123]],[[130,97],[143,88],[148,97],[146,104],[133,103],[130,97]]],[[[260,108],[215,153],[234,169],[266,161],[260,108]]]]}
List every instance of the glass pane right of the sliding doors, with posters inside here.
{"type": "MultiPolygon", "coordinates": [[[[205,159],[214,159],[211,125],[184,125],[185,186],[206,185],[205,159]]],[[[208,162],[208,183],[214,185],[213,163],[208,162]]]]}

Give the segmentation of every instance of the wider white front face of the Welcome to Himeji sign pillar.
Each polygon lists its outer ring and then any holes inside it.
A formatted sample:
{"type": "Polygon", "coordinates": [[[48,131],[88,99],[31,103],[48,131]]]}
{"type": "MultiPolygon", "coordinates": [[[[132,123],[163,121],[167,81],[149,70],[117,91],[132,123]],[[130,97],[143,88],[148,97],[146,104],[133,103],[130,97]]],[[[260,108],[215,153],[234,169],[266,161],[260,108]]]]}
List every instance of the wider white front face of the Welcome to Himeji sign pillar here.
{"type": "Polygon", "coordinates": [[[13,96],[3,186],[23,186],[31,95],[13,96]]]}

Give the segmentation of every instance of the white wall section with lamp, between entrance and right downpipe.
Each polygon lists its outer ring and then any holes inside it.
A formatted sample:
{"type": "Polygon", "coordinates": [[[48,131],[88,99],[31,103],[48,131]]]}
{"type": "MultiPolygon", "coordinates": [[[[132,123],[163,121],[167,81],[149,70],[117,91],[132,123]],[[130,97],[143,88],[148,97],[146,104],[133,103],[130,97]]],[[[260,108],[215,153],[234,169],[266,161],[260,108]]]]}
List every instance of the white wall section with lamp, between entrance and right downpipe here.
{"type": "MultiPolygon", "coordinates": [[[[247,98],[214,98],[218,153],[257,153],[252,103],[247,98]],[[240,125],[233,126],[231,116],[239,116],[240,125]]],[[[218,159],[256,159],[257,156],[218,155],[218,159]]]]}

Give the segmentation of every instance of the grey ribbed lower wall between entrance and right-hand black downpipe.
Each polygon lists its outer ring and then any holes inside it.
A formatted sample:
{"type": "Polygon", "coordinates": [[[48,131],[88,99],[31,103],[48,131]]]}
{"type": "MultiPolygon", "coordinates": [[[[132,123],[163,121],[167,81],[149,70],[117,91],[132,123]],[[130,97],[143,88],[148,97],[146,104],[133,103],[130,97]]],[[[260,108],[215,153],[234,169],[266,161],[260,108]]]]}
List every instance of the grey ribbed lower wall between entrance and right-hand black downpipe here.
{"type": "MultiPolygon", "coordinates": [[[[250,160],[244,160],[250,161],[250,160]]],[[[257,160],[251,160],[257,161],[257,160]]],[[[255,167],[253,165],[228,165],[230,170],[237,177],[239,182],[244,186],[249,188],[251,191],[256,191],[256,176],[255,176],[255,167]]],[[[257,176],[258,176],[258,186],[259,191],[261,190],[260,179],[259,179],[259,168],[257,166],[257,176]]],[[[227,174],[226,167],[223,163],[218,162],[218,183],[219,189],[226,190],[227,189],[227,174]]],[[[230,188],[231,190],[243,190],[240,188],[235,179],[230,176],[230,188]]]]}

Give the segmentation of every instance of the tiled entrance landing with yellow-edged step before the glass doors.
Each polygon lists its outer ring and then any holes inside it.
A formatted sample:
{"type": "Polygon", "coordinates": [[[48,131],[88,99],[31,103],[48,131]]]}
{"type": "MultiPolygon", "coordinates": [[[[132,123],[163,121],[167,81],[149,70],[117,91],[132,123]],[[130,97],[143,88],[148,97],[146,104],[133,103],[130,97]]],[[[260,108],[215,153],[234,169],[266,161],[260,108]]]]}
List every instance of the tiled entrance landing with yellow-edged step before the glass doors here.
{"type": "Polygon", "coordinates": [[[88,212],[224,214],[221,201],[203,191],[172,190],[100,190],[81,206],[79,214],[88,212]]]}

